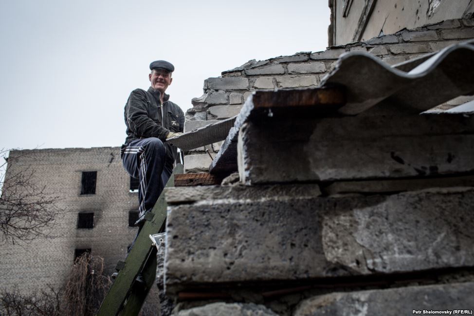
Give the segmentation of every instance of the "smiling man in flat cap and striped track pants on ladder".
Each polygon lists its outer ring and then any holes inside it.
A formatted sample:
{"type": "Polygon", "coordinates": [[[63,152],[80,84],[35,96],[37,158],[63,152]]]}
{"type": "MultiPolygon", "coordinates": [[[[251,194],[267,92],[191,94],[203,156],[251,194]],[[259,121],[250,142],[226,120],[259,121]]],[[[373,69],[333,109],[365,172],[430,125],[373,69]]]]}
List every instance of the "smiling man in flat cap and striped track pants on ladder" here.
{"type": "Polygon", "coordinates": [[[173,81],[174,66],[164,60],[150,64],[151,87],[130,93],[125,105],[127,138],[122,146],[122,161],[128,174],[140,180],[138,221],[143,226],[173,170],[177,148],[166,139],[178,136],[184,127],[184,113],[164,92],[173,81]]]}

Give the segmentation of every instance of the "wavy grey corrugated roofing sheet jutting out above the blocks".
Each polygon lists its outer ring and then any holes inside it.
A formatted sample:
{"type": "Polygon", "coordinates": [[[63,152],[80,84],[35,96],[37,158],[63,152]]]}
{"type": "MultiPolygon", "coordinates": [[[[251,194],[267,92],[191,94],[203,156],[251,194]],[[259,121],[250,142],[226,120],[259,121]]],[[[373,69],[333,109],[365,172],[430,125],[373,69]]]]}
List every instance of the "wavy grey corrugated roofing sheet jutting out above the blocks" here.
{"type": "MultiPolygon", "coordinates": [[[[458,95],[474,93],[473,43],[449,46],[409,72],[390,67],[368,53],[346,53],[321,86],[346,88],[347,103],[339,109],[343,114],[364,112],[387,98],[426,111],[458,95]]],[[[407,69],[406,65],[400,68],[407,69]]]]}

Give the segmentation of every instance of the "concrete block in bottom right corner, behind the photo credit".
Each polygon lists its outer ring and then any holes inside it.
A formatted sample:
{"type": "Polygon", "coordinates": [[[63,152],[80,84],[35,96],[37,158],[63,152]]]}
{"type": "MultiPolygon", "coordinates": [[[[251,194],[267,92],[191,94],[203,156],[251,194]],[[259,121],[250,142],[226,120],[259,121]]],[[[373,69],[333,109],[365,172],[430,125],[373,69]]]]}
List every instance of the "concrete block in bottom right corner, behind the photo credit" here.
{"type": "Polygon", "coordinates": [[[472,308],[473,291],[474,283],[466,282],[331,293],[304,300],[293,315],[453,315],[456,310],[472,308]]]}

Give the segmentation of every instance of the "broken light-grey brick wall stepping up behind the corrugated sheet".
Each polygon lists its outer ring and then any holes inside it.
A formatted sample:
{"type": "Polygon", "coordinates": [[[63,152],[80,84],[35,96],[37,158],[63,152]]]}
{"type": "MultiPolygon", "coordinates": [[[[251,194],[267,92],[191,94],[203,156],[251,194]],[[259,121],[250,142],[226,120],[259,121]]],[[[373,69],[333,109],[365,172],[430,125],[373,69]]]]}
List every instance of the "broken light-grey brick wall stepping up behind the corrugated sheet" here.
{"type": "MultiPolygon", "coordinates": [[[[452,19],[414,30],[403,29],[364,42],[331,46],[323,52],[250,60],[240,67],[222,72],[221,77],[204,80],[204,94],[192,100],[193,108],[186,112],[184,129],[194,130],[237,115],[250,93],[256,90],[317,87],[321,78],[334,67],[337,58],[346,52],[368,52],[394,65],[472,38],[473,19],[452,19]]],[[[466,101],[466,98],[459,98],[441,108],[466,101]]],[[[211,159],[204,152],[206,149],[214,156],[219,151],[219,143],[188,151],[184,159],[186,172],[208,171],[211,159]]]]}

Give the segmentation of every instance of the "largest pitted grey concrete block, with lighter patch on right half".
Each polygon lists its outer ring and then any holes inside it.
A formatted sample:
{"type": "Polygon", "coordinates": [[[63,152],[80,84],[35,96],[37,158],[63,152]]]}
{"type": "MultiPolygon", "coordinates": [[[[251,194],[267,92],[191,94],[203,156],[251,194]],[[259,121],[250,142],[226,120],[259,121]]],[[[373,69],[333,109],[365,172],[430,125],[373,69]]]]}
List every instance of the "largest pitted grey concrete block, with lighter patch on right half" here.
{"type": "Polygon", "coordinates": [[[168,205],[167,294],[216,282],[474,265],[474,188],[334,198],[244,189],[242,198],[215,193],[216,200],[168,205]]]}

